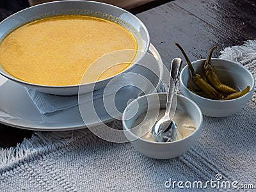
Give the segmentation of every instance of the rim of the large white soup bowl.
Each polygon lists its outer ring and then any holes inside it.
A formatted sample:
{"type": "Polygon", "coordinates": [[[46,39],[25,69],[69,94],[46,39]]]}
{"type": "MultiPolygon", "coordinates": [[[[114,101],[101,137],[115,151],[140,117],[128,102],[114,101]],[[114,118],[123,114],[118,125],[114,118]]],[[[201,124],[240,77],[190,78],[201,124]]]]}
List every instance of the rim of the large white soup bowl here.
{"type": "MultiPolygon", "coordinates": [[[[6,19],[2,20],[0,22],[0,26],[2,23],[6,22],[6,20],[12,18],[12,17],[15,17],[15,15],[19,15],[20,13],[22,12],[26,12],[28,10],[33,10],[33,8],[35,7],[39,7],[39,6],[45,6],[45,4],[65,4],[65,3],[92,3],[92,4],[103,4],[104,6],[109,6],[109,7],[112,7],[112,8],[115,8],[117,10],[122,10],[122,12],[124,13],[128,13],[129,15],[132,15],[132,17],[134,17],[134,19],[136,19],[138,21],[138,23],[140,24],[140,26],[143,27],[143,29],[145,30],[146,32],[146,36],[147,36],[147,39],[148,39],[148,42],[145,46],[145,51],[140,51],[142,52],[140,58],[138,61],[136,61],[136,63],[138,63],[142,58],[143,56],[145,56],[145,54],[148,52],[149,50],[149,47],[150,47],[150,35],[149,35],[149,32],[148,32],[148,29],[147,27],[145,26],[145,24],[138,18],[136,17],[136,15],[132,14],[131,12],[128,12],[127,10],[124,10],[124,8],[120,8],[118,6],[115,6],[113,4],[108,4],[108,3],[102,3],[102,2],[98,2],[98,1],[83,1],[83,0],[64,0],[64,1],[52,1],[52,2],[46,2],[46,3],[42,3],[42,4],[36,4],[34,6],[30,6],[28,8],[24,8],[23,10],[20,10],[19,12],[16,12],[16,13],[13,13],[12,15],[6,17],[6,19]]],[[[78,10],[78,9],[77,9],[78,10]]],[[[44,18],[44,17],[42,17],[44,18]]],[[[30,22],[30,21],[29,21],[30,22]]],[[[27,24],[28,22],[25,22],[24,24],[27,24]]],[[[14,29],[17,29],[17,28],[13,28],[14,29]]],[[[10,32],[9,32],[10,33],[10,32]]],[[[8,33],[8,34],[9,34],[8,33]]],[[[7,35],[8,35],[7,34],[7,35]]],[[[5,36],[4,36],[5,37],[5,36]]],[[[0,42],[1,43],[1,42],[0,42]]],[[[124,49],[124,50],[133,50],[133,49],[124,49]]],[[[138,49],[136,49],[136,51],[139,51],[138,49]]],[[[107,53],[109,54],[109,53],[107,53]]],[[[103,55],[104,56],[104,55],[103,55]]],[[[102,83],[103,81],[109,81],[110,79],[112,79],[113,77],[115,77],[116,75],[120,75],[122,73],[125,73],[125,72],[129,72],[129,70],[131,70],[135,65],[136,63],[131,63],[127,68],[125,68],[124,70],[122,70],[121,72],[119,72],[118,74],[115,74],[113,76],[110,76],[106,79],[101,79],[99,81],[94,81],[94,82],[91,82],[91,83],[79,83],[79,84],[70,84],[70,85],[47,85],[47,84],[36,84],[36,83],[29,83],[28,81],[23,81],[17,77],[14,77],[12,76],[11,74],[9,74],[8,72],[6,72],[6,74],[4,72],[2,72],[0,70],[0,74],[8,79],[11,79],[12,81],[15,81],[17,83],[21,83],[21,84],[24,84],[24,85],[27,85],[27,86],[30,86],[30,87],[37,87],[37,88],[56,88],[56,89],[63,89],[63,88],[77,88],[79,86],[92,86],[93,84],[95,83],[102,83]]],[[[3,69],[4,70],[4,69],[3,69]]],[[[81,81],[83,81],[83,79],[81,79],[81,81]]]]}

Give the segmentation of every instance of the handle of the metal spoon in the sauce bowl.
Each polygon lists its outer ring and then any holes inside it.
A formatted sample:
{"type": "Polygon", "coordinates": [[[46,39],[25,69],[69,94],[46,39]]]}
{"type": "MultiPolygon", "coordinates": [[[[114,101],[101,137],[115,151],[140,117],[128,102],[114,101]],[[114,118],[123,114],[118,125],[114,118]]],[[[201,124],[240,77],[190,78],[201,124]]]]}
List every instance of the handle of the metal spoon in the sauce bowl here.
{"type": "Polygon", "coordinates": [[[169,81],[170,84],[169,84],[169,91],[167,95],[165,116],[167,115],[169,116],[171,111],[173,95],[177,88],[177,82],[179,79],[181,63],[182,63],[182,60],[180,58],[175,58],[172,60],[171,69],[170,69],[170,81],[169,81]]]}

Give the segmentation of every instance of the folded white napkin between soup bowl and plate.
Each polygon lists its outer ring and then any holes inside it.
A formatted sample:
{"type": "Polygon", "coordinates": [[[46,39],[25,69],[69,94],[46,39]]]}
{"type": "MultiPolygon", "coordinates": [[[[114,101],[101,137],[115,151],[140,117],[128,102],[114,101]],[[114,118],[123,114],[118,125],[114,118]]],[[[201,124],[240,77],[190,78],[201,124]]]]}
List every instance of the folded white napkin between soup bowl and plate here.
{"type": "MultiPolygon", "coordinates": [[[[111,93],[115,93],[120,88],[132,85],[132,82],[129,80],[126,81],[115,81],[112,86],[109,86],[108,90],[105,88],[100,88],[99,90],[95,90],[93,92],[93,100],[100,99],[103,97],[103,93],[105,95],[110,95],[111,93]]],[[[52,113],[54,111],[60,111],[63,109],[72,108],[78,105],[78,96],[60,96],[60,95],[51,95],[47,93],[38,92],[32,88],[26,88],[29,97],[33,100],[36,108],[42,113],[52,113]]],[[[83,102],[92,101],[92,93],[87,93],[83,97],[83,102]]]]}

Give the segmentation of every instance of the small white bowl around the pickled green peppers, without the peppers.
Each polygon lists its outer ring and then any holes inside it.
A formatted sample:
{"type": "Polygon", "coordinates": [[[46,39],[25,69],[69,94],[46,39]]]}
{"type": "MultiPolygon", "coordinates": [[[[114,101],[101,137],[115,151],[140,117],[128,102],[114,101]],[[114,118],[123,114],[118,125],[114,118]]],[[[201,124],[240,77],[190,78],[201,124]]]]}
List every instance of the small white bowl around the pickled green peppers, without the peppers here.
{"type": "MultiPolygon", "coordinates": [[[[252,98],[255,86],[253,75],[248,69],[233,61],[221,59],[212,59],[211,61],[216,74],[223,83],[236,90],[243,90],[246,86],[250,86],[250,91],[242,97],[232,100],[213,100],[196,95],[188,89],[188,87],[197,88],[191,79],[192,76],[188,65],[180,72],[180,91],[184,96],[195,101],[202,110],[202,113],[206,116],[221,117],[237,113],[252,98]]],[[[191,64],[195,68],[196,73],[205,79],[203,70],[204,62],[205,59],[196,60],[191,64]]]]}

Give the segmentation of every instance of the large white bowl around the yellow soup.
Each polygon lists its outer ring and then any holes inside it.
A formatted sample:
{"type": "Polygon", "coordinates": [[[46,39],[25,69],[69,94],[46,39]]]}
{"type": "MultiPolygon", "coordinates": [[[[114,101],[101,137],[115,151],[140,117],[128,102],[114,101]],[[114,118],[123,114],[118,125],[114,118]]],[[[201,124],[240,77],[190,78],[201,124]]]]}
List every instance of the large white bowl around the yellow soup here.
{"type": "MultiPolygon", "coordinates": [[[[129,29],[129,31],[131,31],[131,33],[137,40],[139,51],[135,56],[133,63],[137,63],[138,61],[140,61],[145,52],[148,51],[148,47],[150,44],[149,35],[147,28],[140,19],[138,19],[131,13],[123,10],[122,8],[95,1],[56,1],[26,8],[25,10],[17,12],[0,22],[0,42],[6,35],[8,35],[8,33],[10,33],[10,31],[21,26],[22,24],[26,24],[27,22],[31,22],[32,20],[42,19],[44,17],[68,14],[92,15],[103,19],[111,19],[114,22],[117,22],[118,24],[121,24],[125,28],[129,29]],[[111,17],[109,17],[109,15],[111,17]]],[[[128,72],[129,70],[131,70],[132,66],[134,65],[126,68],[123,72],[128,72]]],[[[46,86],[21,81],[20,79],[17,79],[8,74],[8,72],[6,72],[1,66],[0,74],[7,77],[8,79],[11,79],[12,81],[16,81],[17,83],[22,84],[23,86],[26,86],[28,88],[35,88],[39,92],[51,93],[56,95],[77,95],[79,90],[79,84],[72,86],[46,86]]],[[[94,90],[106,86],[108,81],[113,77],[97,81],[96,84],[82,84],[81,86],[83,86],[83,93],[92,92],[94,86],[94,90]]]]}

